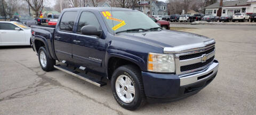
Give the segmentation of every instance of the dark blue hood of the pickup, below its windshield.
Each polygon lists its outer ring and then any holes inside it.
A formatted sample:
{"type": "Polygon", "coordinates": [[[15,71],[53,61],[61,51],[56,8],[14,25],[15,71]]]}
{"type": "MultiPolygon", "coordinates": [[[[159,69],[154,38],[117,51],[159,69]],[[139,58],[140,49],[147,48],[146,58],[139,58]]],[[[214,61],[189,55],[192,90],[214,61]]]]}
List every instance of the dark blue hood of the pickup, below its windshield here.
{"type": "Polygon", "coordinates": [[[153,44],[159,47],[175,47],[188,44],[203,43],[211,40],[205,36],[191,34],[189,32],[162,30],[146,32],[122,32],[117,34],[119,37],[129,38],[153,44]]]}

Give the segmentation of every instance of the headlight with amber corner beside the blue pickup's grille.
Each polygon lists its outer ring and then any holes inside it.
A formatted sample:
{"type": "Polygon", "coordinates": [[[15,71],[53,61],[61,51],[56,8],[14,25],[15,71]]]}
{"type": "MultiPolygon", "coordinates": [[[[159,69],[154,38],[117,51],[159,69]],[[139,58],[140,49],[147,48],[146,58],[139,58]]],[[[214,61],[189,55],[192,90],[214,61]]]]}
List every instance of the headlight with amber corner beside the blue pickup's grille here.
{"type": "Polygon", "coordinates": [[[148,71],[153,72],[175,72],[173,54],[148,54],[148,71]]]}

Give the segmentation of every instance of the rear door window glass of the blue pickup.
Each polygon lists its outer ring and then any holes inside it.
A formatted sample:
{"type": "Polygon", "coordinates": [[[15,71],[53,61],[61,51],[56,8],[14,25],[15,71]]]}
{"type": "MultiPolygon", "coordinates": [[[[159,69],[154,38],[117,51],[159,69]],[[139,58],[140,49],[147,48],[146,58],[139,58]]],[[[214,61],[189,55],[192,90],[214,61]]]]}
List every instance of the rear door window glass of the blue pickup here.
{"type": "Polygon", "coordinates": [[[76,12],[65,12],[60,20],[60,30],[72,32],[76,14],[76,12]]]}

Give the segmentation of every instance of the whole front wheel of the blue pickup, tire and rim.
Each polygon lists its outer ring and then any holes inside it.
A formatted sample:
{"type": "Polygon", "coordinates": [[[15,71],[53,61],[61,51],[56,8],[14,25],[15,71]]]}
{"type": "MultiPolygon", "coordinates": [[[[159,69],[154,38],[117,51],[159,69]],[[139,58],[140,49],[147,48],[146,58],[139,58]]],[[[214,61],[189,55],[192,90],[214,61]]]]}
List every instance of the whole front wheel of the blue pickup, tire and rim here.
{"type": "Polygon", "coordinates": [[[115,70],[111,89],[116,102],[127,110],[135,110],[146,103],[141,71],[134,65],[123,65],[115,70]]]}

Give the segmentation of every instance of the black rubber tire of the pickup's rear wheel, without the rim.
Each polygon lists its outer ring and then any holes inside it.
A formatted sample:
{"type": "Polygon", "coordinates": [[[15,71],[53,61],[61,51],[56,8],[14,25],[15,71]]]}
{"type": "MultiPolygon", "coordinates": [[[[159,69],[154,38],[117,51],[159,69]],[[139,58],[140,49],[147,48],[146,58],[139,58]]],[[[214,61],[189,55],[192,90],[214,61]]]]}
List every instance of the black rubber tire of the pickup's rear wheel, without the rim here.
{"type": "Polygon", "coordinates": [[[53,65],[55,65],[56,61],[54,59],[50,59],[49,54],[45,50],[45,47],[40,47],[39,48],[39,50],[38,50],[38,60],[39,60],[39,63],[41,65],[41,68],[44,71],[51,71],[51,70],[54,69],[53,65]],[[45,67],[42,65],[42,63],[40,61],[41,52],[44,52],[44,54],[46,56],[46,66],[45,67]]]}

